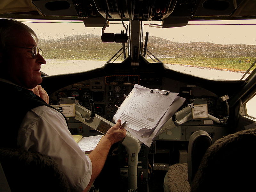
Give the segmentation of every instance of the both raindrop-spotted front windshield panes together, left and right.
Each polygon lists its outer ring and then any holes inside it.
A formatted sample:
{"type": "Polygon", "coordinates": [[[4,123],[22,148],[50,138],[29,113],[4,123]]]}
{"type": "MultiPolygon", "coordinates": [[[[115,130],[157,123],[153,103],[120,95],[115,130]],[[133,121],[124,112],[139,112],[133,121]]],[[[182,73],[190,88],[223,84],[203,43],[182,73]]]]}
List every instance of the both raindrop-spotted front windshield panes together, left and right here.
{"type": "MultiPolygon", "coordinates": [[[[102,43],[102,28],[86,28],[82,21],[20,21],[36,32],[47,61],[41,70],[48,75],[98,68],[117,52],[111,62],[124,60],[121,43],[102,43]]],[[[177,28],[149,27],[149,23],[160,22],[142,23],[143,43],[149,34],[149,62],[161,61],[170,69],[204,78],[241,79],[256,59],[256,20],[189,21],[177,28]]],[[[121,30],[125,32],[121,22],[110,22],[105,33],[121,30]]]]}

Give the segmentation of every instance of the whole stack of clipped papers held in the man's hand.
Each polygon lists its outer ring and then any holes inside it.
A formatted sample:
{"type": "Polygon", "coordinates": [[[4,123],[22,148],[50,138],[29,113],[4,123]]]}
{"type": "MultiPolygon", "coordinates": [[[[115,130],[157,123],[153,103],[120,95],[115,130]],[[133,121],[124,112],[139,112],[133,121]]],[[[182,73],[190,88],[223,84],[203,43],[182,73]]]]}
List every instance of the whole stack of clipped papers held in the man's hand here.
{"type": "Polygon", "coordinates": [[[164,123],[186,100],[178,93],[164,95],[160,90],[150,91],[135,84],[113,117],[115,122],[127,120],[124,128],[148,147],[164,123]]]}

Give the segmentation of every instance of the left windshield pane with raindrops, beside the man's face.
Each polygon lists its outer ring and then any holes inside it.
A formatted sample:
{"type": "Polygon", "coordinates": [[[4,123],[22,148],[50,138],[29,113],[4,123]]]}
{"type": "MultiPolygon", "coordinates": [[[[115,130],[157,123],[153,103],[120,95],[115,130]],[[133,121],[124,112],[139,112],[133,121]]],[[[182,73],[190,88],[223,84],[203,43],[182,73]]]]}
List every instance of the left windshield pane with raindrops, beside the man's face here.
{"type": "MultiPolygon", "coordinates": [[[[41,71],[47,75],[99,68],[122,48],[120,43],[102,43],[102,28],[86,28],[83,21],[19,21],[36,32],[37,45],[43,50],[43,57],[47,62],[41,65],[41,71]]],[[[121,22],[112,22],[110,26],[104,33],[121,33],[121,30],[125,30],[121,22]]],[[[124,60],[124,57],[117,56],[114,58],[115,62],[124,60]]]]}

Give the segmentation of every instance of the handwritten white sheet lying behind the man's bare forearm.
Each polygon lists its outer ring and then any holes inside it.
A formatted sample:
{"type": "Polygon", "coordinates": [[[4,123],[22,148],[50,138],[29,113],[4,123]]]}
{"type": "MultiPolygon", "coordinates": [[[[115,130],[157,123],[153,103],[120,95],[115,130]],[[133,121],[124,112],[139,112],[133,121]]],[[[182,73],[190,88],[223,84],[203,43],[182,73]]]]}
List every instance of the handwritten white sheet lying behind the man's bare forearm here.
{"type": "Polygon", "coordinates": [[[84,152],[92,151],[98,145],[102,136],[103,135],[83,137],[77,144],[84,152]]]}

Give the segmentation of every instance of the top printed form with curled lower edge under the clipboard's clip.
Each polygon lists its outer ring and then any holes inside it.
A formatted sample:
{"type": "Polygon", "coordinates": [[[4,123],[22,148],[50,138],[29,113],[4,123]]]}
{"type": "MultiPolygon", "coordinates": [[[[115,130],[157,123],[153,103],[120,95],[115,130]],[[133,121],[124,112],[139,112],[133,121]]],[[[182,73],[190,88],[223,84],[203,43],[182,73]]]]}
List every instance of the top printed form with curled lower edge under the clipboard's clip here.
{"type": "Polygon", "coordinates": [[[113,120],[127,121],[124,127],[133,127],[141,137],[150,136],[178,93],[149,89],[136,84],[120,105],[113,120]],[[156,94],[152,94],[156,93],[156,94]]]}

